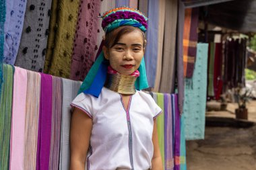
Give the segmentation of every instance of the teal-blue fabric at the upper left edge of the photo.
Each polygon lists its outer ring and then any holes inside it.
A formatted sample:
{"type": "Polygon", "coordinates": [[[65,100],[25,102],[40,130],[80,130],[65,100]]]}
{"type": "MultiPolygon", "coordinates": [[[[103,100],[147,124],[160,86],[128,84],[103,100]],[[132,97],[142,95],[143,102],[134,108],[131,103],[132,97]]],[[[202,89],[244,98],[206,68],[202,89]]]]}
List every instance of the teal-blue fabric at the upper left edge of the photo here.
{"type": "Polygon", "coordinates": [[[4,44],[4,26],[5,26],[5,1],[0,0],[0,97],[1,86],[3,83],[3,44],[4,44]]]}

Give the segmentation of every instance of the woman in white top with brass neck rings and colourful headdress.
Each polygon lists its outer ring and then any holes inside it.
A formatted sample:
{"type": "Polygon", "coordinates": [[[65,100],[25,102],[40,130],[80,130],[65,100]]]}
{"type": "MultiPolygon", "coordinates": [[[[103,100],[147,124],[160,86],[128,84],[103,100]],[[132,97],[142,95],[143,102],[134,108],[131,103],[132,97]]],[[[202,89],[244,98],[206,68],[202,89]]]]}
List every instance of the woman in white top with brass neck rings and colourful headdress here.
{"type": "Polygon", "coordinates": [[[71,119],[70,169],[163,169],[143,54],[147,18],[121,7],[104,13],[102,52],[88,73],[71,119]],[[93,78],[92,78],[93,77],[93,78]]]}

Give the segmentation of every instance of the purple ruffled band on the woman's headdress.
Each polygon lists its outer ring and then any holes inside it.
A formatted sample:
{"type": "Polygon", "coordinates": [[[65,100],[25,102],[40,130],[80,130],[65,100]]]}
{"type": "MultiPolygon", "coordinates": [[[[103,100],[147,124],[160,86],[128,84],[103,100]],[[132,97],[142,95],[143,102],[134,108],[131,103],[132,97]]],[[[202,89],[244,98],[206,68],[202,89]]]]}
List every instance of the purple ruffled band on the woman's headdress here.
{"type": "Polygon", "coordinates": [[[146,19],[142,15],[139,15],[138,13],[131,12],[131,11],[117,11],[115,13],[112,13],[103,19],[101,26],[104,30],[104,28],[108,26],[108,24],[114,22],[116,19],[130,19],[130,18],[136,19],[145,28],[148,28],[146,19]]]}

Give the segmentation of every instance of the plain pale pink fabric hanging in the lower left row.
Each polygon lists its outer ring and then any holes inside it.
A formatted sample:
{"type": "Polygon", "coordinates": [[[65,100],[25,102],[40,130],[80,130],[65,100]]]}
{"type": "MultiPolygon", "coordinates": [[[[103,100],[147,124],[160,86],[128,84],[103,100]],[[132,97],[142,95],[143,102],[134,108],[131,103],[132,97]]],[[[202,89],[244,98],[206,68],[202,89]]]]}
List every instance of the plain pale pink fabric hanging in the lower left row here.
{"type": "Polygon", "coordinates": [[[23,157],[27,79],[27,71],[20,67],[15,67],[11,116],[10,170],[24,169],[23,157]]]}

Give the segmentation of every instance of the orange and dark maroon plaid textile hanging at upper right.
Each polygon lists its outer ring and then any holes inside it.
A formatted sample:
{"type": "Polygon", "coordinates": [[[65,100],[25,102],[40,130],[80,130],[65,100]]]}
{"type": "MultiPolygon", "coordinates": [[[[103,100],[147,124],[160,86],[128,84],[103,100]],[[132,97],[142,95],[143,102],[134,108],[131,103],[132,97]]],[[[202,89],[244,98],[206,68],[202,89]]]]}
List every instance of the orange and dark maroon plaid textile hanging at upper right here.
{"type": "Polygon", "coordinates": [[[185,23],[183,34],[183,62],[184,77],[191,78],[197,54],[197,25],[199,8],[185,9],[185,23]]]}

